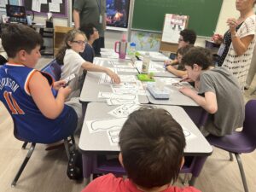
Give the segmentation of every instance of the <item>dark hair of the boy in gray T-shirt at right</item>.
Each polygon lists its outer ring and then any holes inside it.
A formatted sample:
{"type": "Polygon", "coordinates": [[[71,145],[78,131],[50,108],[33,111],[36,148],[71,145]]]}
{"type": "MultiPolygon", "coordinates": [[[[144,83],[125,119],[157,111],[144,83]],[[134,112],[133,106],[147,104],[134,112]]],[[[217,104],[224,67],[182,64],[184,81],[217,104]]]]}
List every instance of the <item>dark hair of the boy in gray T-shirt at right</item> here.
{"type": "Polygon", "coordinates": [[[194,67],[197,64],[202,70],[212,66],[212,53],[209,49],[194,47],[183,55],[182,63],[184,66],[194,67]]]}

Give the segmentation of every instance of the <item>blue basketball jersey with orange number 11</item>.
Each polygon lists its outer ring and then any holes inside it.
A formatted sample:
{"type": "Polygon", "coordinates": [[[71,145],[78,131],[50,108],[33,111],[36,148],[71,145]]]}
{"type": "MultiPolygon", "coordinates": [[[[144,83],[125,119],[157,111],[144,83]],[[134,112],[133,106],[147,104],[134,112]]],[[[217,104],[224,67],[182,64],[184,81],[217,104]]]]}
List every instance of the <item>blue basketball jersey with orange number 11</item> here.
{"type": "MultiPolygon", "coordinates": [[[[72,134],[75,127],[69,127],[73,125],[69,121],[77,116],[73,108],[65,105],[56,119],[44,117],[28,87],[29,80],[36,72],[36,69],[18,64],[6,63],[0,67],[0,100],[15,121],[16,137],[35,143],[53,143],[72,134]]],[[[53,80],[47,79],[51,85],[53,80]]]]}

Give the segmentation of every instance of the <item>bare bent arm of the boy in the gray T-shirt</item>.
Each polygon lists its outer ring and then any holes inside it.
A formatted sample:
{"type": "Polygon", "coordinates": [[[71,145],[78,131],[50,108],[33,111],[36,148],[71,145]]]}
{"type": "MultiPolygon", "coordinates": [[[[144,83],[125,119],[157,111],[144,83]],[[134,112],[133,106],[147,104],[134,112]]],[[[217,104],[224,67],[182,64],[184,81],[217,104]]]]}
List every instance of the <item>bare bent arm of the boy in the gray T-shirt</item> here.
{"type": "Polygon", "coordinates": [[[179,89],[185,96],[189,96],[198,105],[204,108],[208,113],[216,113],[218,110],[216,94],[208,91],[205,92],[205,97],[199,96],[195,90],[191,90],[189,87],[183,87],[179,89]]]}

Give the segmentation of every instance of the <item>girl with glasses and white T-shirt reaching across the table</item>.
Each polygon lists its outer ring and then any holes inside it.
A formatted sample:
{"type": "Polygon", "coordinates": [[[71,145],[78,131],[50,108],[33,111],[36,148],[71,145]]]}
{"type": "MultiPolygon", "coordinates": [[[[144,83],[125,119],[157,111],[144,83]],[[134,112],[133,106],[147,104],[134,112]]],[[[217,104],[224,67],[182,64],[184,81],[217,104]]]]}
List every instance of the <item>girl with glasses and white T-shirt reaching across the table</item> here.
{"type": "Polygon", "coordinates": [[[64,39],[64,45],[56,55],[56,61],[60,64],[64,64],[62,67],[61,79],[66,79],[71,74],[76,75],[75,79],[73,79],[70,84],[73,89],[72,93],[67,99],[78,97],[80,95],[80,90],[84,84],[83,70],[107,73],[114,83],[119,84],[120,82],[119,76],[107,67],[97,66],[91,62],[84,61],[79,53],[84,51],[85,42],[86,37],[84,36],[84,32],[81,32],[78,29],[73,29],[67,32],[64,39]]]}

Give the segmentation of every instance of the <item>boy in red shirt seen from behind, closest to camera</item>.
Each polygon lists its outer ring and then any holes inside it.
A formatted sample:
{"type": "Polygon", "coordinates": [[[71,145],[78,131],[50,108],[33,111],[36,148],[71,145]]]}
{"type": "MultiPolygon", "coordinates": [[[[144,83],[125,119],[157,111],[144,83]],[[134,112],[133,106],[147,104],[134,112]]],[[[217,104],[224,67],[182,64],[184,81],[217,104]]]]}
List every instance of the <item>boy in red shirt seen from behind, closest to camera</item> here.
{"type": "Polygon", "coordinates": [[[172,186],[183,166],[185,137],[182,127],[161,108],[141,108],[129,115],[119,133],[119,162],[127,179],[107,174],[90,182],[82,192],[199,192],[172,186]]]}

